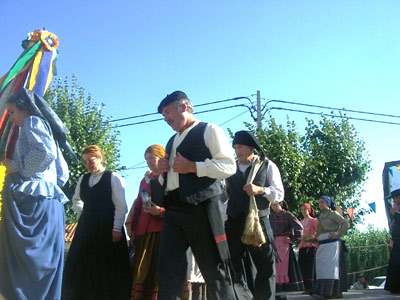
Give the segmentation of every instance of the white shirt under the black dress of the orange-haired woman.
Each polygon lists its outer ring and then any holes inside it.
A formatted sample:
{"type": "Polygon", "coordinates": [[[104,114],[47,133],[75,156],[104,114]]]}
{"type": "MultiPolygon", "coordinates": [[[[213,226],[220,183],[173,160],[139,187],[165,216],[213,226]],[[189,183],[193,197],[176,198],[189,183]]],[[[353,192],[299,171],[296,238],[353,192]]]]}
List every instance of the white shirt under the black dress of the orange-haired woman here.
{"type": "MultiPolygon", "coordinates": [[[[90,174],[89,187],[98,183],[103,174],[104,170],[99,173],[90,174]]],[[[72,208],[78,214],[78,217],[81,216],[84,205],[84,202],[80,197],[82,178],[83,175],[79,178],[78,183],[76,184],[74,196],[72,197],[72,208]]],[[[122,177],[115,172],[111,173],[111,191],[111,200],[115,206],[113,231],[121,231],[125,220],[125,214],[128,211],[128,206],[126,205],[125,200],[125,183],[122,177]]]]}

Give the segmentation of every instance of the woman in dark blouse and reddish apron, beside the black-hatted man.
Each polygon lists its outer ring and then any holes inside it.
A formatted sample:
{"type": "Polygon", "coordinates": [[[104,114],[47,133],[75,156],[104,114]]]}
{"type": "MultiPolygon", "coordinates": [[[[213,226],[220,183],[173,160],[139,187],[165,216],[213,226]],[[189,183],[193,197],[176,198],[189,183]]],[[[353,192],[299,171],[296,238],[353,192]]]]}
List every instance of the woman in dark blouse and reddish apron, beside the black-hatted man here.
{"type": "Polygon", "coordinates": [[[269,216],[269,221],[279,255],[279,259],[275,261],[276,299],[286,299],[281,294],[282,292],[304,290],[299,265],[292,248],[292,245],[300,240],[303,226],[288,210],[285,201],[272,203],[271,208],[272,213],[269,216]]]}

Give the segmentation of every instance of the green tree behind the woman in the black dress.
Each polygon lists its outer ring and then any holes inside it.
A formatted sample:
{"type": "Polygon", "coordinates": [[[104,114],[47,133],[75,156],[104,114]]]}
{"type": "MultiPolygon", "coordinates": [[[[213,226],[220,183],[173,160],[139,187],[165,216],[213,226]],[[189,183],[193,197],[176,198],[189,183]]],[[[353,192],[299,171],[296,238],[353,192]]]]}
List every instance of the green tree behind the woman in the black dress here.
{"type": "MultiPolygon", "coordinates": [[[[70,171],[70,179],[64,187],[64,192],[69,199],[74,194],[80,175],[86,173],[80,162],[85,146],[100,146],[105,152],[105,166],[112,171],[121,169],[119,132],[113,130],[109,118],[103,114],[104,104],[99,105],[90,95],[86,95],[75,76],[72,76],[70,81],[54,81],[44,98],[68,128],[68,142],[78,157],[78,162],[75,162],[70,155],[64,153],[70,171]]],[[[71,204],[69,202],[65,205],[66,223],[77,220],[71,204]]]]}

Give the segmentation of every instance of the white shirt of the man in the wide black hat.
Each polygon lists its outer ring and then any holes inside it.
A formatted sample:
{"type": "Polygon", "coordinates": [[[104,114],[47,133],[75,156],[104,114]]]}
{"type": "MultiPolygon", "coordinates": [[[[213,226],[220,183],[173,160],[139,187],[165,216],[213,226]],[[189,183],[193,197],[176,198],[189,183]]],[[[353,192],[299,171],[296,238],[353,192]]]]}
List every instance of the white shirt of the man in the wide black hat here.
{"type": "MultiPolygon", "coordinates": [[[[241,164],[238,162],[239,170],[244,173],[251,164],[241,164]]],[[[264,195],[271,203],[279,203],[284,199],[285,190],[283,188],[281,173],[272,161],[268,161],[267,179],[264,186],[264,195]]]]}

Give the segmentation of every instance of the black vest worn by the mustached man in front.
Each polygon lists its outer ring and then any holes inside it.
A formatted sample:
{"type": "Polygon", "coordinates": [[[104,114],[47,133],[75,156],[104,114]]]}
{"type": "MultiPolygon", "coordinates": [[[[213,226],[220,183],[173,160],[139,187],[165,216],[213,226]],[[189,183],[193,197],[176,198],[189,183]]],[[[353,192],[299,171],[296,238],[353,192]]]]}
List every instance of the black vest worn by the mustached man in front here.
{"type": "MultiPolygon", "coordinates": [[[[186,135],[181,144],[176,148],[176,153],[191,161],[205,161],[211,159],[210,150],[204,141],[204,131],[207,123],[200,122],[194,126],[186,135]]],[[[175,135],[167,143],[166,152],[170,155],[175,135]]],[[[164,176],[164,186],[167,186],[167,176],[164,176]]],[[[198,177],[194,173],[179,174],[179,198],[180,201],[198,205],[199,203],[218,196],[222,193],[219,180],[210,177],[198,177]]]]}

